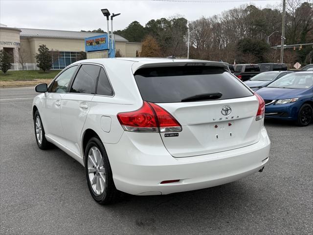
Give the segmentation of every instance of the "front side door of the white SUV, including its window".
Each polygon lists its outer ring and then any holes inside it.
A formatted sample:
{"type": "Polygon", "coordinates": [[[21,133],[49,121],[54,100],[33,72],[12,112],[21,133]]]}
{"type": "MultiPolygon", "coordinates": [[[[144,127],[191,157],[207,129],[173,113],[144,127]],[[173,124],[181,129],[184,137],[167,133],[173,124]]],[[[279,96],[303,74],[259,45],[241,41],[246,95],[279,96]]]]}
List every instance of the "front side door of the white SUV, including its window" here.
{"type": "Polygon", "coordinates": [[[77,65],[71,66],[58,75],[49,86],[42,107],[41,116],[44,119],[45,134],[61,143],[64,142],[64,131],[61,125],[62,97],[66,94],[68,84],[77,68],[77,65]]]}

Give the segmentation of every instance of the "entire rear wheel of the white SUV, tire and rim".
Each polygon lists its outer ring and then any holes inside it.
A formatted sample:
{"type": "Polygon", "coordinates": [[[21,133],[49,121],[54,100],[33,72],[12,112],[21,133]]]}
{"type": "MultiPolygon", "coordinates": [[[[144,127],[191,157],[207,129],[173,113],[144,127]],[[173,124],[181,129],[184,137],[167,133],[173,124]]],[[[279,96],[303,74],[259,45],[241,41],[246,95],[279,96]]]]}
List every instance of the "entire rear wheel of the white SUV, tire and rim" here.
{"type": "Polygon", "coordinates": [[[120,191],[115,188],[108,155],[98,138],[91,138],[85,150],[87,184],[93,199],[99,204],[112,204],[120,191]]]}

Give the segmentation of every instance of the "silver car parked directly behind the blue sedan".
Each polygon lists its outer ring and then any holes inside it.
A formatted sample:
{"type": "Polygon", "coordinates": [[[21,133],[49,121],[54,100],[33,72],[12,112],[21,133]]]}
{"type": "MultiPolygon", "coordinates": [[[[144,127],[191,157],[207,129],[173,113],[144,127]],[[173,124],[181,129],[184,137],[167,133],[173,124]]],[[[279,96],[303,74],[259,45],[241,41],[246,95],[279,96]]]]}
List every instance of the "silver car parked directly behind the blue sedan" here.
{"type": "Polygon", "coordinates": [[[252,91],[257,91],[262,87],[266,87],[271,82],[281,78],[282,76],[291,73],[292,71],[269,71],[261,72],[254,77],[247,80],[246,85],[251,88],[252,91]]]}

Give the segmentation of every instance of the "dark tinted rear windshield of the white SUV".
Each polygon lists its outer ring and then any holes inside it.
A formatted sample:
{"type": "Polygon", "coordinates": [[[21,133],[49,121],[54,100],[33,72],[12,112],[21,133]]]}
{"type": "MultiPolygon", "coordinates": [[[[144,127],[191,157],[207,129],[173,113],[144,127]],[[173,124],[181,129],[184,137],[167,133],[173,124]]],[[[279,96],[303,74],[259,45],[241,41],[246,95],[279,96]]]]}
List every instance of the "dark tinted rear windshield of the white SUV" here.
{"type": "Polygon", "coordinates": [[[134,77],[142,99],[154,103],[182,102],[189,97],[203,94],[222,94],[214,99],[252,95],[238,78],[219,67],[144,68],[137,70],[134,77]]]}

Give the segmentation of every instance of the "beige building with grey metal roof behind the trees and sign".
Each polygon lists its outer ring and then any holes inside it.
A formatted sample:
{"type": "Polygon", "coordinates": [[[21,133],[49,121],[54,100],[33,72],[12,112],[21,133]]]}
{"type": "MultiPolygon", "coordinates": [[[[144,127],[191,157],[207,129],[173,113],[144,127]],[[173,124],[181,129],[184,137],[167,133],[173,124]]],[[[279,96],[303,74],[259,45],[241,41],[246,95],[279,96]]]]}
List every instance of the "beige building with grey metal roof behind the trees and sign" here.
{"type": "MultiPolygon", "coordinates": [[[[85,38],[103,33],[76,32],[64,30],[10,28],[0,26],[0,49],[12,54],[12,63],[36,63],[35,54],[39,45],[46,45],[50,51],[57,51],[53,56],[52,69],[64,69],[79,60],[81,51],[85,51],[85,38]],[[13,61],[14,60],[14,61],[13,61]]],[[[141,50],[141,43],[128,42],[125,38],[114,35],[115,49],[122,57],[136,57],[141,50]]],[[[52,56],[52,53],[51,53],[52,56]]],[[[88,52],[87,58],[105,58],[106,51],[88,52]]]]}

